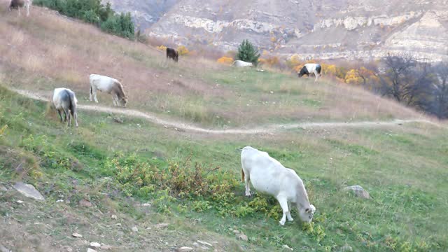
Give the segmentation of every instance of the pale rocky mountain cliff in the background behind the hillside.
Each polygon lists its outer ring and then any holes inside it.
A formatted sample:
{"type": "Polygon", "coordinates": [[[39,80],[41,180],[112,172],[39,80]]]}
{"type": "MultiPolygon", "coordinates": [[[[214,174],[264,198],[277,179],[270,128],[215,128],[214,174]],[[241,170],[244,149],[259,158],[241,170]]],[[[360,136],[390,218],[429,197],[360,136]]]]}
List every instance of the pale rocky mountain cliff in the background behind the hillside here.
{"type": "Polygon", "coordinates": [[[447,0],[113,0],[146,34],[235,50],[244,38],[302,59],[373,59],[412,53],[448,59],[447,0]]]}

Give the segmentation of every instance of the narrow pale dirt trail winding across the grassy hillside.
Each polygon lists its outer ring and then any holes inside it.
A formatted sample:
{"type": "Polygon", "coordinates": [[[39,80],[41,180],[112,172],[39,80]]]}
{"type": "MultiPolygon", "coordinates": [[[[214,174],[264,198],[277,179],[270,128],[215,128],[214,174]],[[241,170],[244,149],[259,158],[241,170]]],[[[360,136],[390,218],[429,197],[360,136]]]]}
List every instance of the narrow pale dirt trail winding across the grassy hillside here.
{"type": "MultiPolygon", "coordinates": [[[[18,92],[19,94],[24,95],[25,97],[29,97],[31,99],[37,99],[44,102],[48,102],[48,98],[50,95],[45,94],[38,94],[38,92],[31,92],[28,90],[17,90],[17,89],[11,89],[14,92],[18,92]]],[[[404,123],[428,123],[430,125],[436,126],[436,127],[443,127],[442,125],[438,123],[434,123],[430,120],[426,120],[424,118],[413,118],[413,119],[406,119],[406,120],[388,120],[388,121],[360,121],[360,122],[349,122],[349,123],[342,123],[342,122],[327,122],[327,123],[291,123],[291,124],[277,124],[277,125],[265,125],[260,127],[253,127],[253,128],[234,128],[234,129],[227,129],[227,130],[211,130],[206,129],[203,127],[198,127],[195,125],[190,125],[188,123],[181,123],[179,121],[175,120],[165,120],[158,118],[158,116],[155,116],[154,114],[147,113],[147,112],[141,112],[136,111],[133,109],[118,109],[113,107],[106,107],[106,106],[98,106],[98,105],[84,105],[84,104],[78,104],[78,109],[83,109],[86,111],[97,111],[97,112],[104,112],[104,113],[117,113],[122,114],[125,116],[134,116],[137,118],[144,118],[146,120],[151,121],[152,123],[163,125],[164,127],[172,127],[176,130],[182,130],[182,131],[190,131],[190,132],[200,132],[200,133],[207,133],[207,134],[272,134],[274,132],[280,131],[280,130],[291,130],[291,129],[309,129],[309,128],[335,128],[335,127],[381,127],[381,126],[392,126],[392,125],[402,125],[404,123]]]]}

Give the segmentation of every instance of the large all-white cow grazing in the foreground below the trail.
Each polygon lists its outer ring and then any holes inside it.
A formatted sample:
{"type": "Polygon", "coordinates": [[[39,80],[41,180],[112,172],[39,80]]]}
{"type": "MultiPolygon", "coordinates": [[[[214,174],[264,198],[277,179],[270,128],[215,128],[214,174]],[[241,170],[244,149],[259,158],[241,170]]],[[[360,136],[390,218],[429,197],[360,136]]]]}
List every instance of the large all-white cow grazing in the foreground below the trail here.
{"type": "Polygon", "coordinates": [[[293,169],[283,167],[279,161],[269,154],[246,146],[241,151],[242,176],[246,183],[246,196],[251,196],[249,181],[253,188],[261,193],[274,196],[283,209],[283,217],[279,221],[284,225],[286,218],[293,221],[290,214],[290,203],[295,204],[300,219],[309,223],[313,219],[316,208],[309,204],[307,191],[302,179],[293,169]]]}

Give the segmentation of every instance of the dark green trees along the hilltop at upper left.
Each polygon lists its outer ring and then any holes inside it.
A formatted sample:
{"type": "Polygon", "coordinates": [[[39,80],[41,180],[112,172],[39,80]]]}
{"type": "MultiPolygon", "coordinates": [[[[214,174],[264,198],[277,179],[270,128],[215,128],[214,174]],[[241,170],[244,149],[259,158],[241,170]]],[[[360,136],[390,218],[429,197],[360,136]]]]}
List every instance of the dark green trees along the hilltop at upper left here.
{"type": "Polygon", "coordinates": [[[101,0],[34,0],[34,4],[92,23],[110,34],[134,38],[135,28],[131,14],[116,13],[109,2],[104,6],[101,0]]]}

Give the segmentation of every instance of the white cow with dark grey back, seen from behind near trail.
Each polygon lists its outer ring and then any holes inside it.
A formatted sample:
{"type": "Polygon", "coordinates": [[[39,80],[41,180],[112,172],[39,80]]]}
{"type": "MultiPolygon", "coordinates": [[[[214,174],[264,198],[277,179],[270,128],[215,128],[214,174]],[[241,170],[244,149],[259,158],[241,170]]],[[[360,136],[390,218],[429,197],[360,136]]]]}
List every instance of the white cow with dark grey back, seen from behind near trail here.
{"type": "Polygon", "coordinates": [[[64,87],[55,88],[55,92],[53,92],[52,106],[57,110],[59,118],[61,118],[61,123],[67,121],[67,126],[71,126],[71,115],[75,120],[76,127],[78,127],[78,114],[76,113],[77,103],[78,100],[73,91],[64,87]],[[61,111],[64,112],[64,118],[62,118],[61,111]]]}

